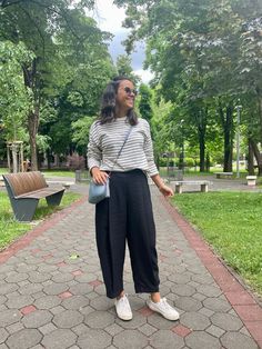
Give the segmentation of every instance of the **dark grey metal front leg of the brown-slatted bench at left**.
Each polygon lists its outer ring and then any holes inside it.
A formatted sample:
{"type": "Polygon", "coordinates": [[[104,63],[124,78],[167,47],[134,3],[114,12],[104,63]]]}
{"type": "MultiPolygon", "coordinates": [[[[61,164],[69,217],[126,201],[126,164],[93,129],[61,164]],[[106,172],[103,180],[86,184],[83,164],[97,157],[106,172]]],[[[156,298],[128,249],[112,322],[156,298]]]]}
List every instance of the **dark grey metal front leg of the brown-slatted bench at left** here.
{"type": "Polygon", "coordinates": [[[38,199],[12,199],[11,205],[18,221],[29,222],[33,219],[38,206],[38,199]]]}

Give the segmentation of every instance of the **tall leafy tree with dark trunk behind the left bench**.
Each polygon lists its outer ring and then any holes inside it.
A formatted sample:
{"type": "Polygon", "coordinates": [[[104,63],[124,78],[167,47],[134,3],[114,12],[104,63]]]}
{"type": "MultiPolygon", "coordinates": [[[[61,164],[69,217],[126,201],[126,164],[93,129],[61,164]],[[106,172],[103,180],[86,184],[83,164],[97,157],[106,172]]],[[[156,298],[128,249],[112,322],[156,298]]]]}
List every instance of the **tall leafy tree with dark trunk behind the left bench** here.
{"type": "MultiPolygon", "coordinates": [[[[66,0],[0,2],[0,39],[14,43],[23,41],[27,49],[34,53],[30,66],[22,64],[24,86],[32,90],[33,96],[33,106],[28,112],[32,169],[37,169],[40,109],[46,101],[47,91],[52,89],[53,68],[58,69],[58,62],[63,60],[56,41],[58,34],[68,34],[67,46],[73,48],[77,57],[92,54],[92,51],[84,51],[85,42],[99,44],[105,38],[94,22],[84,16],[84,6],[91,7],[93,1],[78,1],[74,8],[66,0]]],[[[67,71],[64,72],[68,78],[67,71]]]]}

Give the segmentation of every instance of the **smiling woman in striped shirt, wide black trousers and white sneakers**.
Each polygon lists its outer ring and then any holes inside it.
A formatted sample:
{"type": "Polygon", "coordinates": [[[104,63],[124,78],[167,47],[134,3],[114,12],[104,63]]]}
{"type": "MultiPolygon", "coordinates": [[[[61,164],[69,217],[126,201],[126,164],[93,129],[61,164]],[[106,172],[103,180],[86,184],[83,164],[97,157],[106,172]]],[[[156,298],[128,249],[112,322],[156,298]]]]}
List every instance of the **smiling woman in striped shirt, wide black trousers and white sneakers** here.
{"type": "Polygon", "coordinates": [[[115,298],[120,319],[132,319],[123,288],[128,241],[135,292],[150,293],[147,303],[151,310],[169,320],[178,320],[178,311],[159,292],[155,227],[145,173],[165,197],[173,196],[173,190],[159,176],[149,123],[138,119],[133,111],[135,96],[130,79],[114,78],[103,93],[100,118],[90,129],[88,163],[91,176],[100,185],[110,177],[110,198],[95,206],[98,252],[107,296],[115,298]]]}

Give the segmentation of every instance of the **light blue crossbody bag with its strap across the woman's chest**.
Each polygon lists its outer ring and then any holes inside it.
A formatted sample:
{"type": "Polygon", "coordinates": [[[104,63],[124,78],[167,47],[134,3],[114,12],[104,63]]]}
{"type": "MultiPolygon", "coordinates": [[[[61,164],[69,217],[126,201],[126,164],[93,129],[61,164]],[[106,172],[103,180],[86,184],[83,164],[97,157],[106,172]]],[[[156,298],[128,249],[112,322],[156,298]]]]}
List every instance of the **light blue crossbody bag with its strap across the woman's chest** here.
{"type": "MultiPolygon", "coordinates": [[[[132,127],[130,127],[128,133],[125,134],[124,137],[124,141],[123,141],[123,144],[121,147],[121,149],[119,150],[119,153],[114,160],[114,163],[113,163],[113,168],[114,168],[114,164],[117,163],[122,150],[123,150],[123,147],[124,144],[127,143],[127,140],[129,139],[129,136],[132,131],[132,127]]],[[[112,168],[112,169],[113,169],[112,168]]],[[[109,177],[108,177],[108,180],[107,180],[107,183],[105,185],[97,185],[94,183],[93,180],[90,181],[90,185],[89,185],[89,197],[88,197],[88,201],[90,203],[99,203],[100,201],[102,201],[103,199],[105,198],[109,198],[110,197],[110,189],[109,189],[109,177]]]]}

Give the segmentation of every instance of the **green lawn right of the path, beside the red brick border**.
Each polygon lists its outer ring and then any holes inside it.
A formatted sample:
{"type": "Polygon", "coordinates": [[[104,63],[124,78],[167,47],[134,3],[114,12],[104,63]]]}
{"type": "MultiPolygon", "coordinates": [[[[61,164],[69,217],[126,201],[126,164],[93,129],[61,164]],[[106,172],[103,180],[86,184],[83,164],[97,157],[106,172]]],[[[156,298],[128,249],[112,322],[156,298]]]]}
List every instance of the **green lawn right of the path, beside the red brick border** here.
{"type": "Polygon", "coordinates": [[[225,262],[262,296],[262,193],[183,193],[172,201],[225,262]]]}

